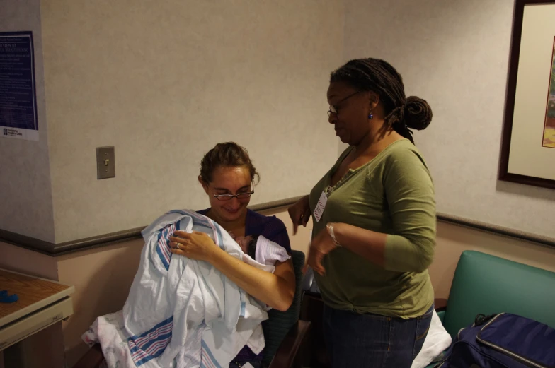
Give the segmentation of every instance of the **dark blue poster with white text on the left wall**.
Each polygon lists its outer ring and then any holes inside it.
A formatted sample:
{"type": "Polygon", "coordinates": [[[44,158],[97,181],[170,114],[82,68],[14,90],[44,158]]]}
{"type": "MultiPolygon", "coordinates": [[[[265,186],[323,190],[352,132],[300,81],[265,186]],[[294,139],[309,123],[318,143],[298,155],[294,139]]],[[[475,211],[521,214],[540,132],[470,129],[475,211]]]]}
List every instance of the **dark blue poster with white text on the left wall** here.
{"type": "Polygon", "coordinates": [[[38,141],[33,32],[0,32],[0,137],[38,141]]]}

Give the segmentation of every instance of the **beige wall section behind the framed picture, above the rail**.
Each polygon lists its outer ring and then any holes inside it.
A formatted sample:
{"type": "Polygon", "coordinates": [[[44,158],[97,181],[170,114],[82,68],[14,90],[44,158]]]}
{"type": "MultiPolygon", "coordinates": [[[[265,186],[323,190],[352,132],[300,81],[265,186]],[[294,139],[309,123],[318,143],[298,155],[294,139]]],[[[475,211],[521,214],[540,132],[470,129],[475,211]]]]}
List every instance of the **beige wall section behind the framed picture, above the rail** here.
{"type": "MultiPolygon", "coordinates": [[[[379,57],[428,100],[416,132],[437,210],[555,238],[555,191],[498,182],[514,1],[345,0],[345,59],[379,57]]],[[[546,61],[549,64],[549,60],[546,61]]],[[[546,79],[549,83],[549,75],[546,79]]],[[[538,142],[543,131],[537,131],[538,142]]]]}

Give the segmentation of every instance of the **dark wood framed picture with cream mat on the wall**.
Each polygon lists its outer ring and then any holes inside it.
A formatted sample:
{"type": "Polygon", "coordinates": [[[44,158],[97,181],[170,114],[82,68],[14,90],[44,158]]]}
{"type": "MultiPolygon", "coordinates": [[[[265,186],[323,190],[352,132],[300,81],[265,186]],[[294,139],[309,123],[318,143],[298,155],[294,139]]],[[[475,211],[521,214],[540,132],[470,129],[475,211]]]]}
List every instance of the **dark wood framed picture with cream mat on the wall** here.
{"type": "Polygon", "coordinates": [[[554,0],[516,0],[499,179],[555,189],[554,0]]]}

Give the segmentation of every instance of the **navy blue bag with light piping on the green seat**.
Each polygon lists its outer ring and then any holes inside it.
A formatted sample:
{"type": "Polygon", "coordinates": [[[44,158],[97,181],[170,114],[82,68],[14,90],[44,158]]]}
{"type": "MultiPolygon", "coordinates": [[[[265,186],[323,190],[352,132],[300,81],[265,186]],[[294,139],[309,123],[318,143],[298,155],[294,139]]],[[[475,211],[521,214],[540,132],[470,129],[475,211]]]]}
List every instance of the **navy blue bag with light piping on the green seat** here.
{"type": "MultiPolygon", "coordinates": [[[[555,311],[554,311],[555,312],[555,311]]],[[[435,368],[555,368],[555,330],[515,314],[479,314],[435,368]]]]}

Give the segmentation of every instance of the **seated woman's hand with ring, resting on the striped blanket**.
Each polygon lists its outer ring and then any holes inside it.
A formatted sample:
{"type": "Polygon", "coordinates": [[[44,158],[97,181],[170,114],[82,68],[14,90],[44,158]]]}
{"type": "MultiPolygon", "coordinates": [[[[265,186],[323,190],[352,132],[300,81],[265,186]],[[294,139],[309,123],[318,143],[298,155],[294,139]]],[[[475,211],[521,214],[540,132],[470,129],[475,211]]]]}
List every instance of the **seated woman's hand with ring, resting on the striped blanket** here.
{"type": "Polygon", "coordinates": [[[204,232],[176,231],[170,237],[171,253],[185,256],[196,261],[212,263],[214,254],[220,251],[211,237],[204,232]]]}

